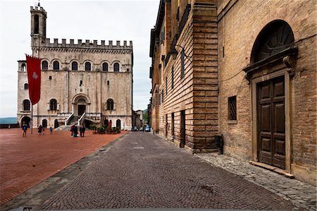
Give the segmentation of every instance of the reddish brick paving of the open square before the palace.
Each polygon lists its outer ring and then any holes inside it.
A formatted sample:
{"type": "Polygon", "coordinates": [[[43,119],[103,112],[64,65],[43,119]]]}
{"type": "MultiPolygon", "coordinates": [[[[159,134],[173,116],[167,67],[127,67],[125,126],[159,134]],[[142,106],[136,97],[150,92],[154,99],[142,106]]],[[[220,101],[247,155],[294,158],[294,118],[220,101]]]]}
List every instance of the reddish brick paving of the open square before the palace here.
{"type": "Polygon", "coordinates": [[[22,137],[20,128],[0,130],[0,205],[98,150],[127,131],[116,135],[92,135],[72,138],[69,131],[45,135],[37,130],[22,137]]]}

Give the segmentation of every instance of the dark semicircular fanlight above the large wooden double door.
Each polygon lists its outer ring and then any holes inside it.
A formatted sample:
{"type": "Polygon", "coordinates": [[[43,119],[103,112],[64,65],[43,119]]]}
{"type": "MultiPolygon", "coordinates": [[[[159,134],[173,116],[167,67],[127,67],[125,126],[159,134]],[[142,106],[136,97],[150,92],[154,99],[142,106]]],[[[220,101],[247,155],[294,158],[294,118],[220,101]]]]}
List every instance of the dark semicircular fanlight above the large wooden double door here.
{"type": "Polygon", "coordinates": [[[255,63],[278,54],[294,45],[294,34],[290,25],[284,20],[268,23],[256,38],[251,54],[251,62],[255,63]]]}

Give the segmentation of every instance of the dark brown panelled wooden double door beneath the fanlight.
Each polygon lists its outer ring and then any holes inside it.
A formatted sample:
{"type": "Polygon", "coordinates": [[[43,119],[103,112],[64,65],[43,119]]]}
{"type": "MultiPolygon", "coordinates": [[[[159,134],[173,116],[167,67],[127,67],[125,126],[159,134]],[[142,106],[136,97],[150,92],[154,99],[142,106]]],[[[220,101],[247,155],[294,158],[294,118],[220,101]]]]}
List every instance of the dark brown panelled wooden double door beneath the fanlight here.
{"type": "Polygon", "coordinates": [[[257,84],[259,162],[285,169],[284,76],[257,84]]]}

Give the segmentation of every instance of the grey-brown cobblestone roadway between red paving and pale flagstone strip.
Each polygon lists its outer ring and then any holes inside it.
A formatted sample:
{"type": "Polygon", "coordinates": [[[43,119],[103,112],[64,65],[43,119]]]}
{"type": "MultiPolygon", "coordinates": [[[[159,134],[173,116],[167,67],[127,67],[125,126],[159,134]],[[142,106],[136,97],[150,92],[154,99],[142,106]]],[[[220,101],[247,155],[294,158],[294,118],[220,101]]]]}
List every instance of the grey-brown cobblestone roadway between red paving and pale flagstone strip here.
{"type": "Polygon", "coordinates": [[[99,208],[304,210],[150,133],[116,142],[43,210],[99,208]]]}

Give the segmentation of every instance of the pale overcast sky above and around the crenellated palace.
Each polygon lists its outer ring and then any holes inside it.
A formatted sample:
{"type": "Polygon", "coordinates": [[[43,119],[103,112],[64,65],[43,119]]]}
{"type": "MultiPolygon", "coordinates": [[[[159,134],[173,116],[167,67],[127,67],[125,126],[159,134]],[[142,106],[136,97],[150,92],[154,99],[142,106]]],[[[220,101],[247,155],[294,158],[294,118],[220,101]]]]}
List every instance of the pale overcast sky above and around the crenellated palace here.
{"type": "MultiPolygon", "coordinates": [[[[30,6],[37,1],[3,1],[1,5],[0,117],[17,114],[18,60],[32,54],[30,6]]],[[[40,1],[47,13],[46,37],[85,40],[133,41],[133,109],[147,109],[150,30],[156,23],[159,0],[40,1]]],[[[76,41],[77,43],[77,41],[76,41]]],[[[107,41],[106,41],[107,43],[107,41]]],[[[128,42],[129,43],[129,42],[128,42]]]]}

